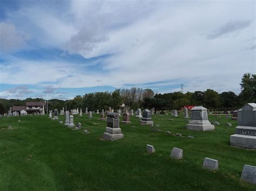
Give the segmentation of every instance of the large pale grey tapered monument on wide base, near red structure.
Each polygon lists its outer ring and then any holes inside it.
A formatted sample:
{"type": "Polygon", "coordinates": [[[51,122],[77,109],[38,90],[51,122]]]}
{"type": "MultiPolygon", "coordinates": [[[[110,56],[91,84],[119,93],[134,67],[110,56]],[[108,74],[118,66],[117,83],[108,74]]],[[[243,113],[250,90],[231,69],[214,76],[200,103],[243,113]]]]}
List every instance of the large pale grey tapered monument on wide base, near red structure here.
{"type": "Polygon", "coordinates": [[[186,129],[192,131],[210,131],[215,128],[208,121],[207,109],[203,106],[196,106],[191,109],[190,123],[186,125],[186,129]]]}

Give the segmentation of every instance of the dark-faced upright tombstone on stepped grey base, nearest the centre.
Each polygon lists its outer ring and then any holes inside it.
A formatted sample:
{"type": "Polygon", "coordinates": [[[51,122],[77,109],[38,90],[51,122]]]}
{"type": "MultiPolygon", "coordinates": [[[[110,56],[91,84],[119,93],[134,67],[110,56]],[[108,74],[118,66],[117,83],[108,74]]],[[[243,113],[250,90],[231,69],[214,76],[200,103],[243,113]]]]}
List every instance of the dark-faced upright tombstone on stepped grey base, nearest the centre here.
{"type": "Polygon", "coordinates": [[[117,140],[124,138],[119,126],[119,115],[115,112],[107,113],[107,127],[103,134],[104,140],[117,140]]]}

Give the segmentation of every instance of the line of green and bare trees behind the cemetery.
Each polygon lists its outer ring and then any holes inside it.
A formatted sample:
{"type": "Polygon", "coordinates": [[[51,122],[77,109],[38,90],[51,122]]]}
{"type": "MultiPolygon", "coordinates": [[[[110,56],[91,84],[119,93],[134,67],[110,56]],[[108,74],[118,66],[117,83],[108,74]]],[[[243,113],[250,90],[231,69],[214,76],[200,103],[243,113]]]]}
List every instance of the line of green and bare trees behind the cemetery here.
{"type": "MultiPolygon", "coordinates": [[[[72,100],[48,100],[48,110],[62,109],[68,110],[88,108],[88,111],[107,110],[112,107],[114,110],[121,108],[124,103],[128,109],[136,110],[151,109],[155,111],[179,110],[184,105],[203,105],[210,111],[224,111],[239,109],[245,103],[256,102],[256,74],[246,73],[241,79],[241,92],[236,95],[233,91],[218,93],[213,89],[205,91],[187,92],[180,91],[165,94],[155,94],[152,89],[130,88],[116,89],[112,92],[96,92],[83,96],[77,95],[72,100]]],[[[0,114],[8,112],[9,108],[16,105],[25,105],[26,102],[44,101],[43,98],[26,98],[25,100],[0,99],[0,114]]]]}

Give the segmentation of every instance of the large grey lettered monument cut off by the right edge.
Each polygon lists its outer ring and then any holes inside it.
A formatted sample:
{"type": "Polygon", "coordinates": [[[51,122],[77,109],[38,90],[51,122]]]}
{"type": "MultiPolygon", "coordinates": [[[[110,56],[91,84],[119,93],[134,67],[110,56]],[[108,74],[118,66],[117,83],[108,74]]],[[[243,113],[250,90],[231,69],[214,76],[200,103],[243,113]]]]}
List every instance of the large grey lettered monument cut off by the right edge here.
{"type": "Polygon", "coordinates": [[[256,149],[256,103],[247,103],[238,110],[238,126],[230,144],[256,149]]]}

